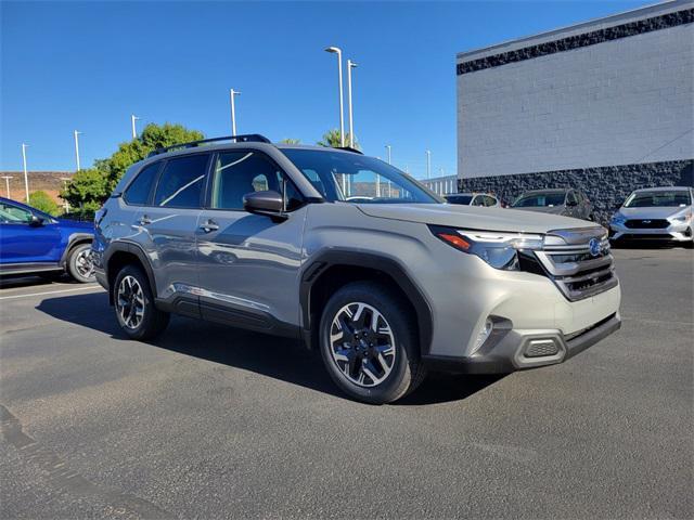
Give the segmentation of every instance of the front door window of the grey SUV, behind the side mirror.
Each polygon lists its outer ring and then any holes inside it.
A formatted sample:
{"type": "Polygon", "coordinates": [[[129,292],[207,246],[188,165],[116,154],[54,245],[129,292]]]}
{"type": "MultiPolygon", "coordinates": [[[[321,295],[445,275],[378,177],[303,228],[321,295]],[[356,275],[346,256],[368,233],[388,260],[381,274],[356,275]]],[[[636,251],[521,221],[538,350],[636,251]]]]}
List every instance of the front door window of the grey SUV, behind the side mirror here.
{"type": "Polygon", "coordinates": [[[294,184],[265,154],[253,151],[219,154],[215,164],[213,208],[241,210],[244,195],[267,190],[285,194],[287,211],[303,204],[294,184]]]}

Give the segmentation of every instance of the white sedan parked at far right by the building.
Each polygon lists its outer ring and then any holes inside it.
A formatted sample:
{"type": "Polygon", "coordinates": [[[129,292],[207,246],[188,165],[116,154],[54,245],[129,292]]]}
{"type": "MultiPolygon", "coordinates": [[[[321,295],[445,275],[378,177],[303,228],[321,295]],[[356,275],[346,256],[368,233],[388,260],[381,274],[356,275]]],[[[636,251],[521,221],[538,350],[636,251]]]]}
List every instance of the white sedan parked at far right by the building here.
{"type": "Polygon", "coordinates": [[[692,247],[694,190],[685,186],[637,190],[613,216],[613,242],[634,239],[670,240],[692,247]]]}

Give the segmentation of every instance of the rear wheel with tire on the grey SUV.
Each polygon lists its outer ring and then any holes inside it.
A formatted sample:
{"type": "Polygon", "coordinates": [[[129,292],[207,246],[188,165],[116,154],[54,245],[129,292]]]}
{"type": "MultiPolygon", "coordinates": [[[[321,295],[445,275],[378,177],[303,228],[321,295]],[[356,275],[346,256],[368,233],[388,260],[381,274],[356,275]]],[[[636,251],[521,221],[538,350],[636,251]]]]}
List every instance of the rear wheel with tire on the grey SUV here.
{"type": "Polygon", "coordinates": [[[144,341],[166,329],[169,314],[154,306],[150,281],[140,268],[123,268],[111,290],[118,325],[130,338],[144,341]]]}

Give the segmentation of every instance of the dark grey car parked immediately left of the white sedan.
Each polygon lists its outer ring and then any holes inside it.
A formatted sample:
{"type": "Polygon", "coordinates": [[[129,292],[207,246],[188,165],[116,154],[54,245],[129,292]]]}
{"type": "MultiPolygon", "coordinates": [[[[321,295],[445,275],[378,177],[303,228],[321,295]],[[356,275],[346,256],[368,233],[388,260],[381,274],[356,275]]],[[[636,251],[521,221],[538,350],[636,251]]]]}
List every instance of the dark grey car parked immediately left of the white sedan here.
{"type": "Polygon", "coordinates": [[[580,190],[532,190],[520,195],[513,209],[563,214],[575,219],[594,221],[593,205],[580,190]]]}

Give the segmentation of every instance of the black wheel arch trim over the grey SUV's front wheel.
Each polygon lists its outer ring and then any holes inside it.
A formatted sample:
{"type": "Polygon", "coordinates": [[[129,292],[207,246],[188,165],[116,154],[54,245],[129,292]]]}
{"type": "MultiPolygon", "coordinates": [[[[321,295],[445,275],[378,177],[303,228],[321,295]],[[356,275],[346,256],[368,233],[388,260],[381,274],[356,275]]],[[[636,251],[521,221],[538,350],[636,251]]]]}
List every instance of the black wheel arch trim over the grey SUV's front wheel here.
{"type": "Polygon", "coordinates": [[[428,354],[434,330],[432,307],[424,296],[424,291],[412,281],[402,264],[383,255],[334,248],[317,253],[310,263],[301,271],[299,304],[301,309],[303,337],[308,348],[313,347],[312,343],[314,342],[316,336],[311,329],[314,325],[318,325],[311,323],[311,289],[320,275],[335,265],[372,269],[389,275],[414,308],[420,334],[420,351],[422,355],[428,354]]]}

